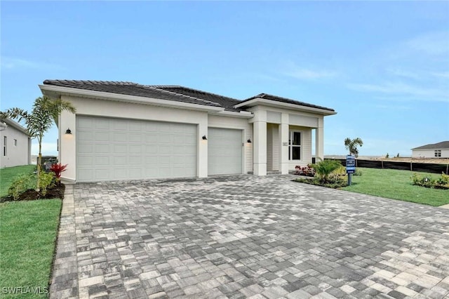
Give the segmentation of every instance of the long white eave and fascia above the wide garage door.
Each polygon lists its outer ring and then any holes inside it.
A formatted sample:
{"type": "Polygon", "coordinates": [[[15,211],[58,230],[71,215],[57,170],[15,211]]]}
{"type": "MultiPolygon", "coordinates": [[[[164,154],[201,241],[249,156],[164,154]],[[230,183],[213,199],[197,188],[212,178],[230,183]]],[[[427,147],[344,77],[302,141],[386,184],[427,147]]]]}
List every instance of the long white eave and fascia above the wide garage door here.
{"type": "Polygon", "coordinates": [[[177,102],[174,100],[163,100],[159,98],[147,98],[138,95],[124,95],[121,93],[107,93],[105,91],[90,91],[82,88],[70,88],[64,86],[54,85],[39,85],[43,95],[51,98],[58,98],[60,95],[72,95],[81,98],[97,98],[100,100],[116,100],[119,102],[131,102],[134,104],[155,105],[162,107],[178,108],[178,109],[192,109],[206,112],[220,112],[225,110],[223,107],[214,107],[208,105],[199,105],[189,102],[177,102]]]}

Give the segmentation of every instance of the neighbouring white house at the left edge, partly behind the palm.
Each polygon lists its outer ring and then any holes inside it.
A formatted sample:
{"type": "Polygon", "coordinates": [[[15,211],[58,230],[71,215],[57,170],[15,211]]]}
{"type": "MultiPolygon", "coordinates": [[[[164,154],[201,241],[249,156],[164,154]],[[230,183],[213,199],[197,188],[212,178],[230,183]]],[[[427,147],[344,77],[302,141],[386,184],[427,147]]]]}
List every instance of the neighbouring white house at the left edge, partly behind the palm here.
{"type": "Polygon", "coordinates": [[[12,119],[0,121],[0,166],[31,164],[31,138],[26,128],[12,119]]]}

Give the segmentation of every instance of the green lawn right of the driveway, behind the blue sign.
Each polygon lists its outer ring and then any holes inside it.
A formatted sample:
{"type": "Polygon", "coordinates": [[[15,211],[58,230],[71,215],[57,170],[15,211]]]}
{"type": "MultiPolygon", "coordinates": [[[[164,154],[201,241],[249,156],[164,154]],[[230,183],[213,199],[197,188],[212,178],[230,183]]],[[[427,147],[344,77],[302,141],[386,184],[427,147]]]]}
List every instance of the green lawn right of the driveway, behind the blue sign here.
{"type": "MultiPolygon", "coordinates": [[[[362,175],[352,176],[353,185],[342,187],[342,190],[363,194],[411,201],[429,206],[449,204],[449,190],[429,189],[411,185],[411,171],[396,169],[358,168],[362,175]]],[[[418,173],[429,178],[438,178],[436,173],[418,173]]]]}

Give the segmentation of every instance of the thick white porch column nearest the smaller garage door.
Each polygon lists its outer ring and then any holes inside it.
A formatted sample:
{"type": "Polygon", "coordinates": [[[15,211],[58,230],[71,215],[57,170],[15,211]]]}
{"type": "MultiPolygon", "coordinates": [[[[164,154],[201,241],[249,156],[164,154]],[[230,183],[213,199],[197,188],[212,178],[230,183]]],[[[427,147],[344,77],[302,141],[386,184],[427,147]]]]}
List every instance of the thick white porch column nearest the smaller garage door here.
{"type": "Polygon", "coordinates": [[[267,175],[267,112],[255,112],[253,123],[253,170],[255,175],[267,175]]]}

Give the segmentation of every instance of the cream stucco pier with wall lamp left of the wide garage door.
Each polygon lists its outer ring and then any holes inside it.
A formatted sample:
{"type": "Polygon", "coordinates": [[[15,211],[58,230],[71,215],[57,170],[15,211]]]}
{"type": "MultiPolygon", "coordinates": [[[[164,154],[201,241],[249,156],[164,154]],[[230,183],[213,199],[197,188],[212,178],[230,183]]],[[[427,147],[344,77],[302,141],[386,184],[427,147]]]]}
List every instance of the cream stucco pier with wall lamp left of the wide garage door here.
{"type": "Polygon", "coordinates": [[[75,114],[64,110],[61,112],[59,120],[58,160],[62,165],[67,164],[66,171],[61,174],[61,180],[70,184],[76,180],[76,117],[75,114]],[[72,134],[65,133],[68,128],[72,134]]]}

